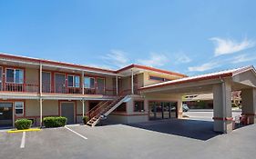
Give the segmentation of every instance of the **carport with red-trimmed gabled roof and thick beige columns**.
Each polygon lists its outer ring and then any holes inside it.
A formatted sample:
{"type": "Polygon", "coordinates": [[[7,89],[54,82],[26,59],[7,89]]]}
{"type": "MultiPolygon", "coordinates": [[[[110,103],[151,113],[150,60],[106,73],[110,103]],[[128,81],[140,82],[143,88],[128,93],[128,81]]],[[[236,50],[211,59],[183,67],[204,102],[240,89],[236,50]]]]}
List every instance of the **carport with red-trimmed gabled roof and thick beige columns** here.
{"type": "MultiPolygon", "coordinates": [[[[249,124],[256,121],[256,71],[253,66],[151,84],[140,91],[146,98],[153,95],[179,96],[178,101],[182,95],[212,93],[213,130],[222,133],[230,133],[233,128],[231,92],[241,91],[242,114],[246,115],[249,124]]],[[[181,102],[178,103],[178,111],[178,115],[182,113],[181,102]]]]}

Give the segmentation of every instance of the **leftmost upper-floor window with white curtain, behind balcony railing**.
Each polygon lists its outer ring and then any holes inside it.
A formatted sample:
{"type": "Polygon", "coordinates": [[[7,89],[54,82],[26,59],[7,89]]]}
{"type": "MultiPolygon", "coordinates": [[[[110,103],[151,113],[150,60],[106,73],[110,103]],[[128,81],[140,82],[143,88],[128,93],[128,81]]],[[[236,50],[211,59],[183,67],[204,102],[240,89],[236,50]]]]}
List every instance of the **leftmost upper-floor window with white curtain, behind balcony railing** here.
{"type": "Polygon", "coordinates": [[[23,84],[24,83],[24,72],[21,69],[6,69],[6,82],[23,84]]]}

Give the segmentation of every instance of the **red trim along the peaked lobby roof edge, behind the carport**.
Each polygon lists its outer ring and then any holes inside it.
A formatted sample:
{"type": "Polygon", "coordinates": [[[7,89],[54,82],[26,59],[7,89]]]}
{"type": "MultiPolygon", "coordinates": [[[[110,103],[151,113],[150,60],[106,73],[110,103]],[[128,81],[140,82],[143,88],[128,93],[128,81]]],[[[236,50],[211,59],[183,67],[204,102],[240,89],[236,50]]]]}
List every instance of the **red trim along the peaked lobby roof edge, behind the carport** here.
{"type": "Polygon", "coordinates": [[[155,71],[155,72],[159,72],[159,73],[169,74],[169,75],[178,75],[178,76],[181,76],[181,77],[186,77],[187,76],[187,75],[182,75],[182,74],[179,74],[179,73],[174,73],[174,72],[170,72],[170,71],[166,71],[166,70],[161,70],[159,68],[149,67],[149,66],[146,66],[146,65],[128,65],[124,68],[121,68],[121,69],[117,70],[116,73],[120,73],[122,71],[128,70],[130,68],[134,68],[134,67],[149,70],[149,71],[155,71]]]}

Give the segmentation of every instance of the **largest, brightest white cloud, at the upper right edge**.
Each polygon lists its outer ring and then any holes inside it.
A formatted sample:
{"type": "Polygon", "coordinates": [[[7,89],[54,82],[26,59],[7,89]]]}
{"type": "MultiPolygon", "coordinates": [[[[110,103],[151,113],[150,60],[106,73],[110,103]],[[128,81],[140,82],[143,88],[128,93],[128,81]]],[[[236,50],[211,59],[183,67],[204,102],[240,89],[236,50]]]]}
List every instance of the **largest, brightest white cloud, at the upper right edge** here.
{"type": "Polygon", "coordinates": [[[254,41],[246,38],[240,43],[236,42],[234,39],[223,39],[220,37],[212,37],[210,40],[216,45],[214,50],[215,56],[229,55],[255,46],[254,41]]]}

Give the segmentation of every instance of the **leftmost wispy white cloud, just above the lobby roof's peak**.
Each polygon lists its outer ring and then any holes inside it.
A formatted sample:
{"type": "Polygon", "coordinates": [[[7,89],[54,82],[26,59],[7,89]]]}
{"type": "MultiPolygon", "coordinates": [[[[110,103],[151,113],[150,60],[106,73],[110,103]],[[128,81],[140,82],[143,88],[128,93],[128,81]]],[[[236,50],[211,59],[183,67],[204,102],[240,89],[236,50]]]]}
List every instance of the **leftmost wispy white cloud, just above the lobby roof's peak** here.
{"type": "Polygon", "coordinates": [[[110,53],[108,53],[105,56],[101,56],[101,59],[104,60],[106,65],[109,65],[109,67],[123,67],[128,65],[129,59],[126,56],[127,54],[123,52],[122,50],[110,50],[110,53]]]}

